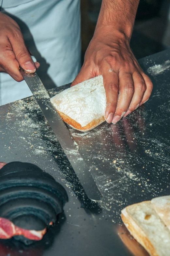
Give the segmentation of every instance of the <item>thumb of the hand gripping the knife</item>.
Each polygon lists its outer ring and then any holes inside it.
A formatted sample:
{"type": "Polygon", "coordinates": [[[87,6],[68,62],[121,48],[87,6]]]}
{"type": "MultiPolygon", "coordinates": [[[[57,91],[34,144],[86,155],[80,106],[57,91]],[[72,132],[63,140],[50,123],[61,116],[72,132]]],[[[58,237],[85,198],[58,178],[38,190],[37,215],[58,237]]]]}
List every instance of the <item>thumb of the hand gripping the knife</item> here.
{"type": "Polygon", "coordinates": [[[20,67],[27,72],[34,73],[36,71],[36,66],[26,48],[22,33],[18,33],[12,41],[10,40],[10,42],[20,67]]]}

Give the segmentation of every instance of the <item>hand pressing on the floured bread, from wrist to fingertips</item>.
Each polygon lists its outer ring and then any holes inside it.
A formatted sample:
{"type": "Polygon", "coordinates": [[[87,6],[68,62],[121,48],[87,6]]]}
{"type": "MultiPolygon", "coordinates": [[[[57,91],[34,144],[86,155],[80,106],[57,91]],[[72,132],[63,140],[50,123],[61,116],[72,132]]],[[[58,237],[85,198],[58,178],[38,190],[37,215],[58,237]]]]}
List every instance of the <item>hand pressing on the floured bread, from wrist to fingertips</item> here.
{"type": "Polygon", "coordinates": [[[152,82],[133,55],[129,39],[109,26],[95,31],[83,67],[71,86],[98,75],[103,76],[108,123],[126,117],[150,97],[152,82]]]}

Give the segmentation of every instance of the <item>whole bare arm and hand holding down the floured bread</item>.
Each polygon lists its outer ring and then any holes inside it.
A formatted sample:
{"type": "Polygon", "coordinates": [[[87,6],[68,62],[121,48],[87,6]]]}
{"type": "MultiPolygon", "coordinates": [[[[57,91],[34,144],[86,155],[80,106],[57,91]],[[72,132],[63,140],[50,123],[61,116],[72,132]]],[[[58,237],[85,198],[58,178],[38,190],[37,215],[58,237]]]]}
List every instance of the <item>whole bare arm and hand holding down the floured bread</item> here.
{"type": "Polygon", "coordinates": [[[130,39],[139,0],[103,0],[94,36],[80,73],[71,86],[102,74],[105,119],[116,123],[145,103],[152,82],[139,66],[130,39]]]}

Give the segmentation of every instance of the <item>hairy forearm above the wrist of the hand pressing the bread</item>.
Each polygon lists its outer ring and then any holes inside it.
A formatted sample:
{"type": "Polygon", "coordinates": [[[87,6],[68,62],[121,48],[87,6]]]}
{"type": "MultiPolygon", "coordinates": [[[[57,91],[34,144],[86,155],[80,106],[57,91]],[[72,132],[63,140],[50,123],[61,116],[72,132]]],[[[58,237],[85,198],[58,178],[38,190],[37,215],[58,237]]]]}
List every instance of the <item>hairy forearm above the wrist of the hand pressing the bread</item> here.
{"type": "Polygon", "coordinates": [[[96,31],[110,27],[110,31],[131,38],[139,0],[103,0],[96,31]]]}

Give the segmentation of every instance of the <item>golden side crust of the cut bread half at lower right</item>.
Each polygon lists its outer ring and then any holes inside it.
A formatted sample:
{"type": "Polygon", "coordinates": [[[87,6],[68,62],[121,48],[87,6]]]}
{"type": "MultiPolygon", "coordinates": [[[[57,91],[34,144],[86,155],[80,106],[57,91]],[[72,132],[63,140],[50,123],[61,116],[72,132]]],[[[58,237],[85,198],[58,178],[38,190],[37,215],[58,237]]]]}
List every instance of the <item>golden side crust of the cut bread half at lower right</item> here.
{"type": "Polygon", "coordinates": [[[146,237],[143,230],[128,215],[126,208],[122,210],[121,218],[130,234],[136,239],[149,253],[150,256],[159,256],[150,240],[146,237]],[[125,216],[126,215],[126,216],[125,216]]]}

